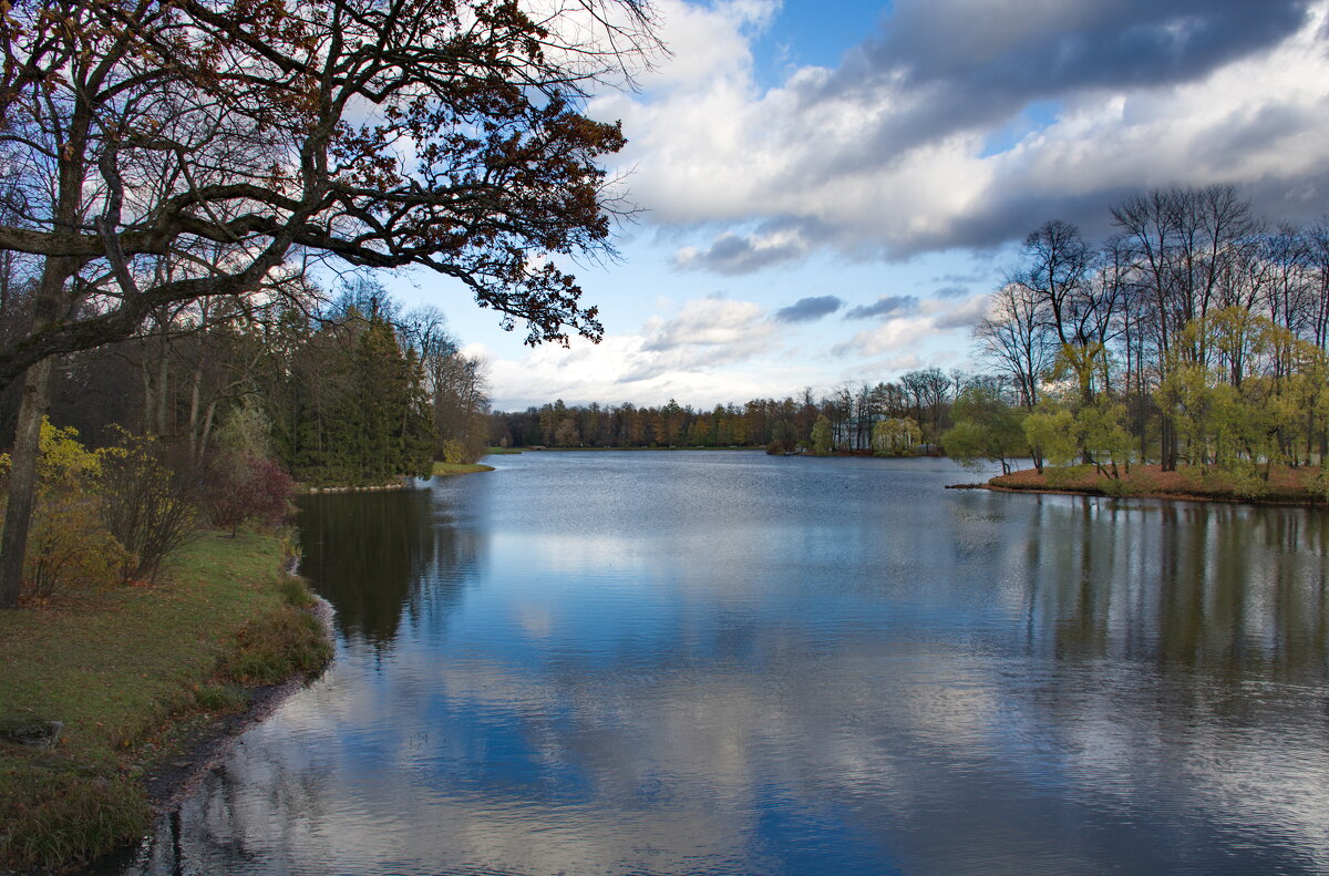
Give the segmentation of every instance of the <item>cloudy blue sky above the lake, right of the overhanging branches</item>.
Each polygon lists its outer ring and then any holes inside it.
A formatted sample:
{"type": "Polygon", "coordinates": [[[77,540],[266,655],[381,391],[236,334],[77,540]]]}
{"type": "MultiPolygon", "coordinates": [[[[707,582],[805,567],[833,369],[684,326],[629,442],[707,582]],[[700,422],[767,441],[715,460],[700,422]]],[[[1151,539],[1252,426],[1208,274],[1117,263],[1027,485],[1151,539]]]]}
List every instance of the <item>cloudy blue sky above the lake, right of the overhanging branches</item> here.
{"type": "Polygon", "coordinates": [[[1152,187],[1329,213],[1329,0],[657,0],[667,56],[587,113],[637,205],[583,261],[605,338],[522,346],[455,283],[496,409],[711,407],[973,368],[970,327],[1049,219],[1091,241],[1152,187]]]}

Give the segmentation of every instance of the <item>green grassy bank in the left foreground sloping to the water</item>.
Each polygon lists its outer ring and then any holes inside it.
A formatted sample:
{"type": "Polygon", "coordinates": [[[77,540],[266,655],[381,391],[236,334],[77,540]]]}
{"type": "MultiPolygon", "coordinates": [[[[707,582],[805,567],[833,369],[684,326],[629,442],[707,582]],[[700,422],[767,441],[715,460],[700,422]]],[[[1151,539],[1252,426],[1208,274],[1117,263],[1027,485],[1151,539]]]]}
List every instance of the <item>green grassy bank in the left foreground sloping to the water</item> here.
{"type": "Polygon", "coordinates": [[[271,534],[207,534],[150,586],[0,611],[0,868],[56,869],[141,836],[146,775],[187,730],[331,655],[271,534]],[[61,722],[54,746],[12,740],[61,722]]]}

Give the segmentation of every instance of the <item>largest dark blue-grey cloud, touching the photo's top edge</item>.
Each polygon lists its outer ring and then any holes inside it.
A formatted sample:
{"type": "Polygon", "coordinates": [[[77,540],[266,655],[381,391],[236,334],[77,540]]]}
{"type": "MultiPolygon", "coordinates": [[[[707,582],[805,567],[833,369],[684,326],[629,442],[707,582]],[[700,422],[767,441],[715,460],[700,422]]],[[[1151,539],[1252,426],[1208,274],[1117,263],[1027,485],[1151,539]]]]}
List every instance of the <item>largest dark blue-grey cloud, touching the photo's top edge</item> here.
{"type": "Polygon", "coordinates": [[[1306,20],[1308,0],[1029,0],[975,7],[901,0],[881,36],[804,96],[905,100],[847,158],[872,166],[960,132],[995,129],[1033,101],[1084,89],[1195,80],[1271,48],[1306,20]]]}

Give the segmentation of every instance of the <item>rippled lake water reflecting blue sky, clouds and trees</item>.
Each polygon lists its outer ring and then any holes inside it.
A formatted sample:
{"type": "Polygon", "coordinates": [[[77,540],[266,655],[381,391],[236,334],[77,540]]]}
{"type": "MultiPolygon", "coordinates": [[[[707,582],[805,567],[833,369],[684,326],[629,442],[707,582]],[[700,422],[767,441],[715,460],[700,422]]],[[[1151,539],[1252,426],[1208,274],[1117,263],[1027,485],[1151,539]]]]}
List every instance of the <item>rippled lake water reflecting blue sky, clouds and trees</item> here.
{"type": "Polygon", "coordinates": [[[489,461],[304,504],[336,661],[126,872],[1329,872],[1324,513],[489,461]]]}

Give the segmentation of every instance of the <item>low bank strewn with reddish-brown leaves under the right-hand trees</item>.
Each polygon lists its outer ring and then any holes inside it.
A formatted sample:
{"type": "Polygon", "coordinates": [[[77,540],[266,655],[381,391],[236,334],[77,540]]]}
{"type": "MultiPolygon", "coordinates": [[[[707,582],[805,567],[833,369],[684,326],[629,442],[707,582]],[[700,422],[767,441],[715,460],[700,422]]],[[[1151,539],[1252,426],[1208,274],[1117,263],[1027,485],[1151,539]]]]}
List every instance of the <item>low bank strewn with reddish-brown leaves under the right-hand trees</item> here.
{"type": "Polygon", "coordinates": [[[1247,502],[1324,502],[1318,468],[1273,467],[1268,480],[1260,469],[1248,472],[1203,472],[1181,467],[1164,472],[1158,465],[1132,465],[1114,479],[1092,465],[1045,468],[999,475],[989,487],[1025,492],[1083,493],[1086,496],[1143,496],[1155,498],[1196,498],[1207,501],[1247,502]]]}

